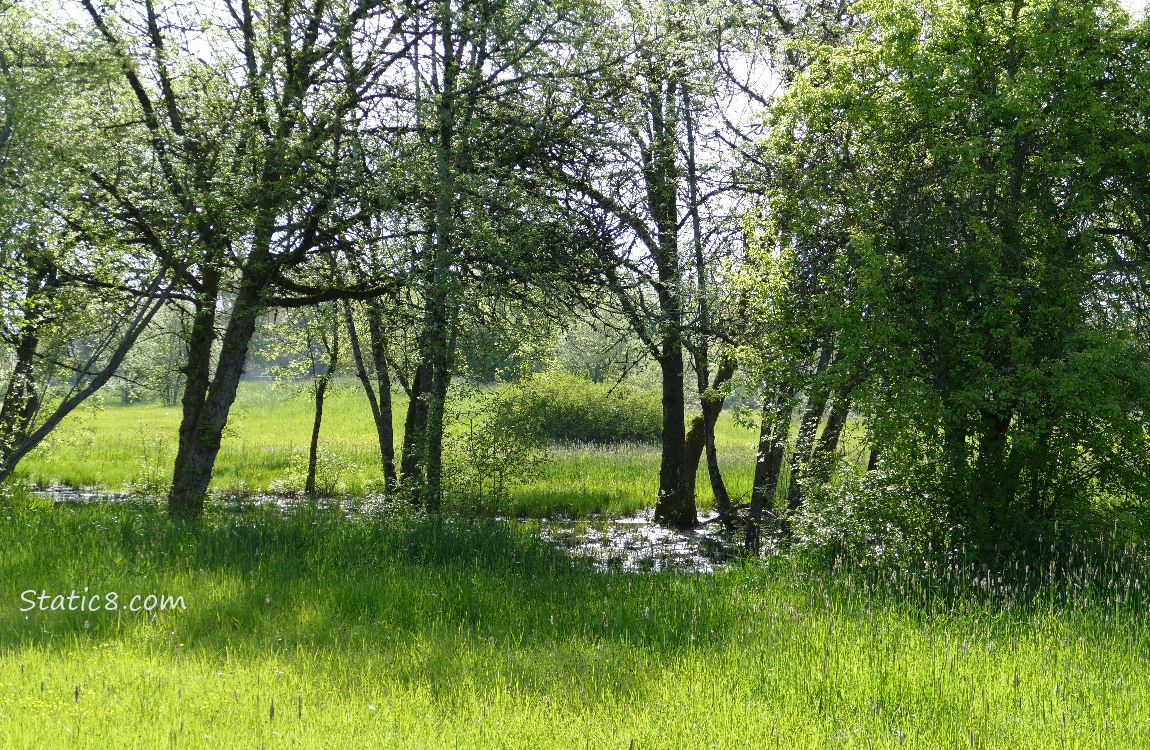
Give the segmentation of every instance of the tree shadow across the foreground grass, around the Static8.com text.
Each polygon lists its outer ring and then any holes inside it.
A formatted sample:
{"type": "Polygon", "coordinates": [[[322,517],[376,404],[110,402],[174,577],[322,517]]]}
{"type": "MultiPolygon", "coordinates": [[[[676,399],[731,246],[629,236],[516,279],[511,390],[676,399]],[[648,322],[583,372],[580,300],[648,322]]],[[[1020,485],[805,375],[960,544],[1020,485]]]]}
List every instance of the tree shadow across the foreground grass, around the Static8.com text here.
{"type": "Polygon", "coordinates": [[[608,659],[641,675],[739,622],[728,584],[601,574],[512,523],[347,518],[255,508],[172,523],[154,504],[0,512],[0,649],[85,642],[229,658],[381,659],[411,683],[461,676],[522,686],[608,659]],[[23,590],[116,591],[116,612],[20,612],[23,590]],[[126,612],[135,594],[183,596],[175,613],[126,612]]]}

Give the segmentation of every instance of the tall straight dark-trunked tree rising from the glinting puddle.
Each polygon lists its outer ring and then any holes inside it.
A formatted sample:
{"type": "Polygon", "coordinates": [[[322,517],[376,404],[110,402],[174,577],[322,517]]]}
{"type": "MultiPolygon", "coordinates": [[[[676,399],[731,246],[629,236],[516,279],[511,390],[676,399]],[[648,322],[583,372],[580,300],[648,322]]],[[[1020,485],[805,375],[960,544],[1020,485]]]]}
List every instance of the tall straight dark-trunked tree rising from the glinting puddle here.
{"type": "Polygon", "coordinates": [[[685,529],[697,523],[697,513],[685,472],[680,139],[683,90],[696,68],[687,51],[687,20],[673,8],[623,3],[618,13],[607,45],[622,46],[626,56],[612,64],[606,85],[583,83],[597,104],[584,117],[590,143],[557,178],[590,213],[614,223],[615,247],[599,258],[603,283],[658,363],[662,382],[656,520],[685,529]]]}

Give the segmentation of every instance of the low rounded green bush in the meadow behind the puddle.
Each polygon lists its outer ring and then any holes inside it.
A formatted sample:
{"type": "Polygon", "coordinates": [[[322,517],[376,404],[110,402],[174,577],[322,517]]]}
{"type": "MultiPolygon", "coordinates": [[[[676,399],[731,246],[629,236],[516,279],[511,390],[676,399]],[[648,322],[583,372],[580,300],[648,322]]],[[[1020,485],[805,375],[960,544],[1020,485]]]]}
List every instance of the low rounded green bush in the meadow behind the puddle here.
{"type": "Polygon", "coordinates": [[[650,443],[662,431],[659,393],[549,372],[508,389],[511,418],[551,443],[650,443]]]}

